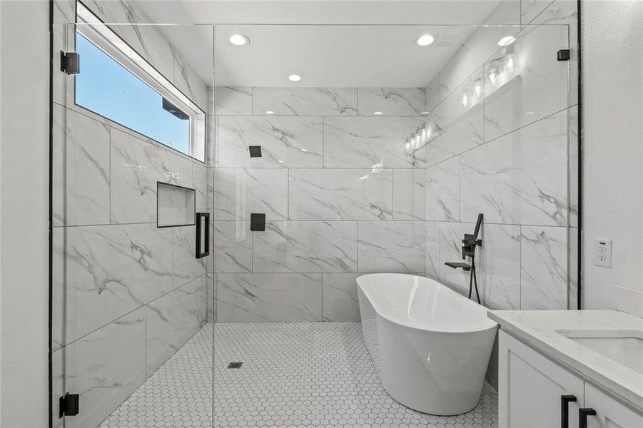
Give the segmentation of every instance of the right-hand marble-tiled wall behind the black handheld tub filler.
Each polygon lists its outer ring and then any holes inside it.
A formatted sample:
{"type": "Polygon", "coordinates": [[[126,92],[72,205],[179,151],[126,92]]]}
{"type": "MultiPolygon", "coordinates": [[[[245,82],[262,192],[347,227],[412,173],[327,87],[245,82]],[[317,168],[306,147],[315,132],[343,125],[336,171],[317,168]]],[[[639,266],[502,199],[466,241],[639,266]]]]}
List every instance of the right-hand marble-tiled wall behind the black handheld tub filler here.
{"type": "Polygon", "coordinates": [[[461,259],[462,235],[483,213],[477,278],[488,307],[575,304],[576,7],[522,1],[523,26],[477,30],[427,87],[426,273],[468,291],[468,272],[444,263],[461,259]],[[568,46],[572,60],[557,61],[568,46]]]}

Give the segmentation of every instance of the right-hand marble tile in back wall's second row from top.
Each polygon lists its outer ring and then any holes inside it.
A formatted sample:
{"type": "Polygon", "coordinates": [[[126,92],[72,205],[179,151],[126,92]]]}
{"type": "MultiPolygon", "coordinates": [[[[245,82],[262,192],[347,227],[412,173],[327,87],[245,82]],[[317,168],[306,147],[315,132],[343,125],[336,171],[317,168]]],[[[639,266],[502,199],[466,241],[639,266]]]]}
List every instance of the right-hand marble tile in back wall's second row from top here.
{"type": "Polygon", "coordinates": [[[324,118],[326,168],[424,168],[424,151],[410,153],[406,138],[422,117],[324,118]]]}

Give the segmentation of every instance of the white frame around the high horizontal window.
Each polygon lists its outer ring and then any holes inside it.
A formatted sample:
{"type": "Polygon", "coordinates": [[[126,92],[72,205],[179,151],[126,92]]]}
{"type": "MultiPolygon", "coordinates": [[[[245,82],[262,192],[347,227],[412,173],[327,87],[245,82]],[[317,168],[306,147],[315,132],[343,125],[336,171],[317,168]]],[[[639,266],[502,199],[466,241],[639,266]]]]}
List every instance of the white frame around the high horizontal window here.
{"type": "MultiPolygon", "coordinates": [[[[134,51],[118,34],[98,19],[86,6],[81,2],[76,2],[76,5],[76,32],[78,34],[90,41],[98,49],[101,49],[123,68],[126,68],[127,71],[143,83],[146,83],[153,91],[156,91],[189,116],[188,151],[190,153],[178,152],[205,163],[206,113],[184,93],[179,91],[163,74],[159,73],[143,56],[134,51]]],[[[74,98],[76,98],[75,94],[74,98]]],[[[101,114],[100,112],[94,113],[101,114]]],[[[136,131],[136,129],[133,131],[136,131]]],[[[136,132],[141,133],[141,131],[136,132]]],[[[143,133],[141,134],[144,135],[143,133]]],[[[172,147],[161,141],[159,143],[163,144],[163,146],[172,147]]]]}

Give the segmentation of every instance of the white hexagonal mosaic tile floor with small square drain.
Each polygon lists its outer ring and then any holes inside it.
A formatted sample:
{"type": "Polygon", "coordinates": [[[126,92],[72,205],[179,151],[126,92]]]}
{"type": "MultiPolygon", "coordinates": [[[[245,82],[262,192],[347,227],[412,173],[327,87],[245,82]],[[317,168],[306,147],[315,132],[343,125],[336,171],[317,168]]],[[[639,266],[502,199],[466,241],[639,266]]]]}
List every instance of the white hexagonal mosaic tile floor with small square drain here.
{"type": "MultiPolygon", "coordinates": [[[[212,325],[119,407],[102,427],[206,427],[212,325]],[[155,407],[158,401],[165,405],[155,407]],[[159,424],[161,423],[161,424],[159,424]]],[[[214,427],[496,427],[497,394],[485,384],[467,414],[437,417],[391,399],[358,322],[247,322],[214,327],[214,427]],[[230,362],[243,362],[228,369],[230,362]]]]}

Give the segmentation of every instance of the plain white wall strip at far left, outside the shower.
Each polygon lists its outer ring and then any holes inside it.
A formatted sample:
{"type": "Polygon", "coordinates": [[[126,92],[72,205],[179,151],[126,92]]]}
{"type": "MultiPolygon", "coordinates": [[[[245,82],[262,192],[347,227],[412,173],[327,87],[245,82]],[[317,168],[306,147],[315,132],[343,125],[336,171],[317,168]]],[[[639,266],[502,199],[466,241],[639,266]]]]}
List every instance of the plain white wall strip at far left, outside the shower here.
{"type": "Polygon", "coordinates": [[[0,6],[0,425],[46,427],[49,5],[0,6]]]}

